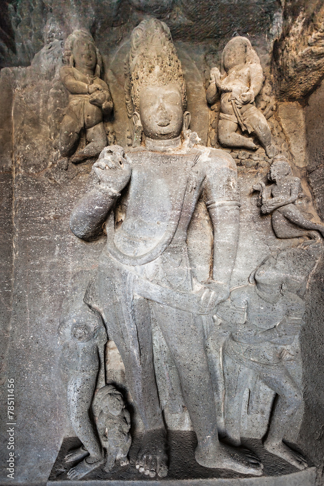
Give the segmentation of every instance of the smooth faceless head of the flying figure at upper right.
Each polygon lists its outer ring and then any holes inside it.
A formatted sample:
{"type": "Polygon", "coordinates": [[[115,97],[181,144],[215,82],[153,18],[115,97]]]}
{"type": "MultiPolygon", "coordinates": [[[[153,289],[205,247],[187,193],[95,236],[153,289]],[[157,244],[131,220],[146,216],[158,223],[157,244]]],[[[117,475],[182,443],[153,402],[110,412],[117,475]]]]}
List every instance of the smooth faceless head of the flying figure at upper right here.
{"type": "Polygon", "coordinates": [[[235,66],[246,63],[260,64],[256,51],[246,37],[233,37],[222,52],[221,73],[227,73],[235,66]]]}

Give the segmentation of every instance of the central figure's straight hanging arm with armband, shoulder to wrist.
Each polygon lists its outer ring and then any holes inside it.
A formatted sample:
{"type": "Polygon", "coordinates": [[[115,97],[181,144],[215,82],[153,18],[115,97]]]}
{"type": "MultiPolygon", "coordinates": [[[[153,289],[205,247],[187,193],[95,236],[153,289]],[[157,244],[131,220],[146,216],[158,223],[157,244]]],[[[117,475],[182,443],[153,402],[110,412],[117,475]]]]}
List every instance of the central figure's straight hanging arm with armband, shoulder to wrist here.
{"type": "Polygon", "coordinates": [[[215,150],[207,162],[205,203],[214,228],[213,280],[229,285],[239,243],[239,194],[233,158],[215,150]]]}

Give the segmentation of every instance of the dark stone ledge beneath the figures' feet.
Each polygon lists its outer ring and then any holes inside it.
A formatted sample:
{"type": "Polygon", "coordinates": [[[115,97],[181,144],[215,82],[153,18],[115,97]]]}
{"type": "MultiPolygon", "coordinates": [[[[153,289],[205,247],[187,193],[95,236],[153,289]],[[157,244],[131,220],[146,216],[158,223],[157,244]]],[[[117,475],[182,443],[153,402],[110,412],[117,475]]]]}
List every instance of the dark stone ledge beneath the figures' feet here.
{"type": "Polygon", "coordinates": [[[298,471],[282,459],[262,448],[259,440],[246,440],[244,445],[262,460],[264,474],[261,477],[245,476],[228,469],[208,469],[200,466],[194,458],[196,435],[192,432],[169,432],[169,474],[166,478],[150,478],[135,468],[136,453],[140,437],[133,440],[130,449],[130,464],[116,464],[109,472],[98,468],[79,481],[69,481],[68,465],[63,458],[70,449],[80,446],[80,441],[66,438],[51,470],[47,486],[315,486],[316,469],[309,467],[298,471]]]}

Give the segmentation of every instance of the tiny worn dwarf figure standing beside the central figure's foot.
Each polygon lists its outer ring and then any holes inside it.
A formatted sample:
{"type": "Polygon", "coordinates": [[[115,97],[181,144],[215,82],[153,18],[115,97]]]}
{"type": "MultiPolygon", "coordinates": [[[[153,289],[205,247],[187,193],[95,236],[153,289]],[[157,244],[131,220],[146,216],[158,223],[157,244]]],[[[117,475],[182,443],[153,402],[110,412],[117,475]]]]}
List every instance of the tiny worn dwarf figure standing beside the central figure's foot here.
{"type": "Polygon", "coordinates": [[[116,460],[120,466],[129,464],[127,457],[132,438],[129,433],[131,417],[125,409],[122,394],[114,385],[106,385],[96,394],[92,404],[102,448],[106,451],[105,471],[110,471],[116,460]]]}

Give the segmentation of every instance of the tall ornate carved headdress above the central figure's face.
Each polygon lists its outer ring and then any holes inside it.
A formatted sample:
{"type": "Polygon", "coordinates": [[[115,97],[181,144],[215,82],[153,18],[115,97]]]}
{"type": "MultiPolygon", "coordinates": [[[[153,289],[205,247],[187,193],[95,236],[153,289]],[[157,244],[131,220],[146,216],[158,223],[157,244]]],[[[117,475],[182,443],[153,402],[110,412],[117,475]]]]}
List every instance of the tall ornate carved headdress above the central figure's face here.
{"type": "MultiPolygon", "coordinates": [[[[139,93],[145,86],[178,85],[184,111],[186,84],[169,27],[156,18],[143,20],[132,32],[125,63],[125,102],[128,118],[139,108],[139,93]]],[[[132,125],[130,124],[130,127],[132,125]]]]}

